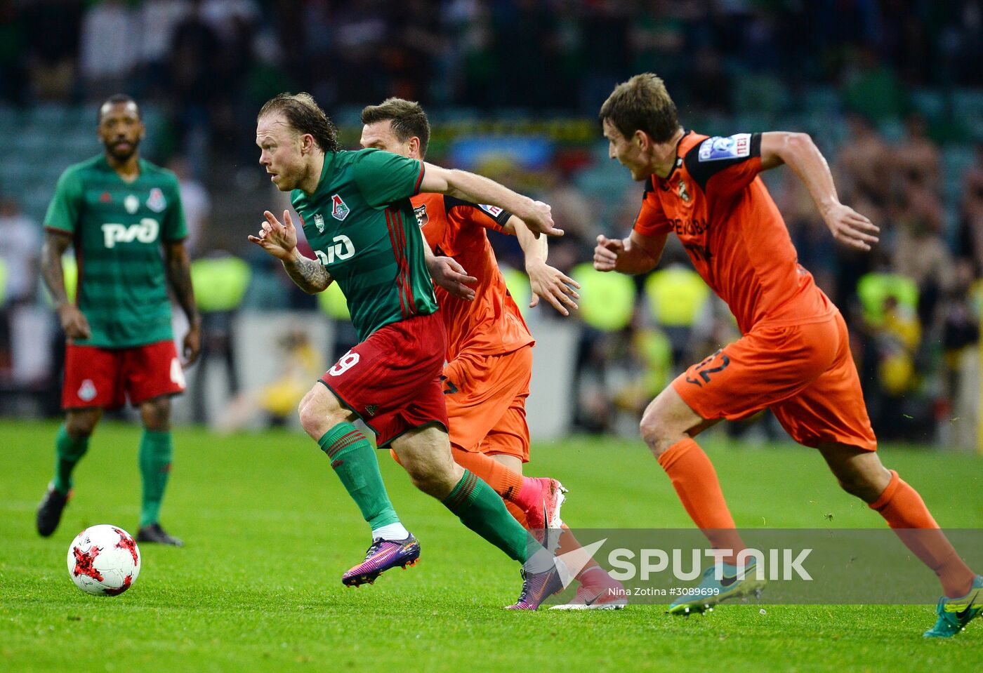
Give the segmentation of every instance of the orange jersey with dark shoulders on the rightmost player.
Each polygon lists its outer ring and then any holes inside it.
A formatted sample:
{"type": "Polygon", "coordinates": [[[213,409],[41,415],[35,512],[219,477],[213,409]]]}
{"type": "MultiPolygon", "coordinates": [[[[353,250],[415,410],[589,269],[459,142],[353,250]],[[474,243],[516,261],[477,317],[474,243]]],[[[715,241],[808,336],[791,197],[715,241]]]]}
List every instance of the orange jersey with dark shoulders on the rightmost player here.
{"type": "Polygon", "coordinates": [[[679,140],[667,178],[647,182],[635,231],[675,232],[707,285],[737,318],[755,325],[827,319],[836,307],[798,263],[781,213],[758,176],[761,135],[679,140]]]}

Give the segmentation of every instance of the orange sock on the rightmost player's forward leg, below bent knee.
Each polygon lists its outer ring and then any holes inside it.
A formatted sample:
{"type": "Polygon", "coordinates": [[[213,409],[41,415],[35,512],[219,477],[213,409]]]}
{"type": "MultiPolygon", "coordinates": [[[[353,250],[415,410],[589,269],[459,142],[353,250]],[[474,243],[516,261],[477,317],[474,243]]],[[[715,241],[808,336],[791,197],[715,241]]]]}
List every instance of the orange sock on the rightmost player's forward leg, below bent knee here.
{"type": "Polygon", "coordinates": [[[693,523],[703,531],[715,549],[733,549],[723,560],[734,564],[744,542],[734,530],[733,517],[723,500],[721,483],[710,458],[689,437],[680,439],[659,456],[659,465],[672,481],[693,523]]]}

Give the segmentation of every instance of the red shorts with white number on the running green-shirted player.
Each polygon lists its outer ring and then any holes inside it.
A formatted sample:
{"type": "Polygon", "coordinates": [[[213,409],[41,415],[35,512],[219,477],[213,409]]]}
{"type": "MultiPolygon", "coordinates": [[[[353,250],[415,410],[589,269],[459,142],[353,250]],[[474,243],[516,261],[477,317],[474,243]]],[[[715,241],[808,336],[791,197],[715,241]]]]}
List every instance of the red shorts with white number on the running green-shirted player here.
{"type": "Polygon", "coordinates": [[[417,427],[447,428],[440,389],[446,335],[439,313],[380,327],[320,377],[376,433],[376,447],[417,427]]]}

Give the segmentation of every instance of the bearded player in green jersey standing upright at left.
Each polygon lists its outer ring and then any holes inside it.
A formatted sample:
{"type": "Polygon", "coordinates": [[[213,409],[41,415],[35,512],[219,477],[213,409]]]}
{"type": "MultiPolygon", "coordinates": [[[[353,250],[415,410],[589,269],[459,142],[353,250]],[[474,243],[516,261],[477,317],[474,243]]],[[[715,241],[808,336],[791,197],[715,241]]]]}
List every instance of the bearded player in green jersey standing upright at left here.
{"type": "Polygon", "coordinates": [[[41,273],[67,339],[66,419],[55,440],[55,477],[37,510],[37,532],[46,537],[58,528],[72,492],[72,471],[86,454],[102,411],[129,398],[144,423],[137,539],[181,546],[159,521],[171,468],[170,397],[185,388],[182,366],[198,358],[202,328],[178,181],[140,158],[145,128],[129,96],[117,94],[102,104],[97,134],[105,151],[65,170],[44,218],[41,273]],[[79,262],[74,304],[61,262],[73,244],[79,262]],[[190,323],[184,362],[174,346],[168,283],[190,323]]]}

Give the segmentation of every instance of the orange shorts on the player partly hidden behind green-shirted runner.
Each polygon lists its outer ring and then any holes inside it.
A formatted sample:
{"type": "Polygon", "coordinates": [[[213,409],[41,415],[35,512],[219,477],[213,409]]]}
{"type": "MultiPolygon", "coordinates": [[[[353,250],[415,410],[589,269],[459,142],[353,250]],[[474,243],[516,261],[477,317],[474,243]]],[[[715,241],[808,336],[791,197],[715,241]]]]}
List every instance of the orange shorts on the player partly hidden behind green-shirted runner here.
{"type": "Polygon", "coordinates": [[[533,346],[504,355],[462,355],[443,368],[450,442],[465,451],[529,462],[526,398],[533,346]]]}

